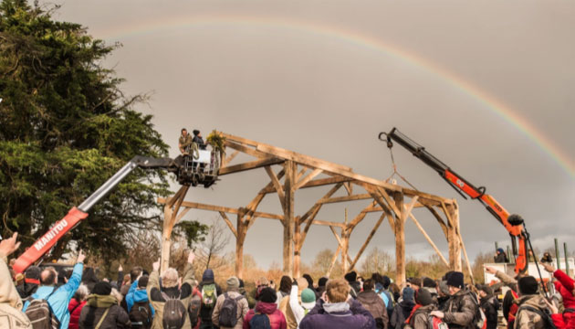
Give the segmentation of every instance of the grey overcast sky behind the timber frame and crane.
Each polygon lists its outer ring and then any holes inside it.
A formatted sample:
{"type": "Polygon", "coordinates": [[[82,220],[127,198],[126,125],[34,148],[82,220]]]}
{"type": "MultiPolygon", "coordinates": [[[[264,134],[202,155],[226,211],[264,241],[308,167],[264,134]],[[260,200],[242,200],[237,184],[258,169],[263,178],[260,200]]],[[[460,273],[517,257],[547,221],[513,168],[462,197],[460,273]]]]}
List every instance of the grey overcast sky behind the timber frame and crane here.
{"type": "MultiPolygon", "coordinates": [[[[123,45],[104,65],[127,80],[128,94],[152,93],[149,105],[137,109],[155,116],[172,156],[178,154],[183,126],[204,135],[218,129],[384,179],[392,164],[377,135],[396,126],[468,181],[486,186],[509,212],[522,215],[536,246],[550,247],[559,238],[575,249],[571,1],[56,3],[62,5],[57,19],[123,45]],[[497,113],[493,102],[554,145],[563,166],[497,113]]],[[[457,196],[400,146],[394,154],[414,186],[457,198],[470,257],[493,250],[495,241],[508,244],[505,228],[478,202],[457,196]]],[[[187,199],[246,206],[268,179],[261,169],[224,176],[212,189],[192,189],[187,199]]],[[[296,213],[307,211],[325,191],[298,192],[296,213]]],[[[350,206],[350,217],[364,204],[350,206]]],[[[318,218],[342,221],[343,208],[324,207],[318,218]]],[[[280,213],[277,196],[267,196],[261,209],[280,213]]],[[[419,210],[414,214],[446,256],[434,218],[419,210]]],[[[207,223],[213,216],[197,211],[186,218],[207,223]]],[[[376,220],[366,218],[353,232],[352,258],[376,220]]],[[[413,223],[406,229],[408,257],[431,255],[413,223]]],[[[245,251],[264,267],[281,263],[281,240],[278,222],[258,219],[245,251]]],[[[376,245],[394,252],[388,225],[372,239],[376,245]]],[[[234,246],[231,240],[229,250],[234,246]]],[[[302,259],[336,247],[328,228],[312,228],[302,259]]]]}

